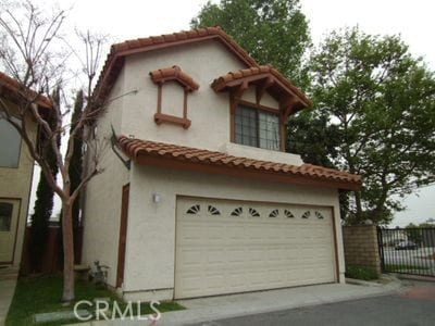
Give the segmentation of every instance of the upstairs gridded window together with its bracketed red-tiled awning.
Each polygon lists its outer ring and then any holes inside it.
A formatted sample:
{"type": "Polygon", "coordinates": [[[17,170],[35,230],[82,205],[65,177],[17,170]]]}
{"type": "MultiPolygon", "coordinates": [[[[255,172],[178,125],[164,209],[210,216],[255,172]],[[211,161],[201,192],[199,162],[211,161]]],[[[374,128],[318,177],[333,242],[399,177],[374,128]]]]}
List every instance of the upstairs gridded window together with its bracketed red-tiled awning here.
{"type": "MultiPolygon", "coordinates": [[[[231,114],[231,141],[268,150],[285,151],[285,123],[289,115],[312,102],[272,66],[253,66],[229,72],[211,84],[216,92],[227,92],[231,114]],[[254,99],[244,93],[254,91],[254,99]],[[268,93],[277,105],[262,105],[268,93]]],[[[252,92],[251,92],[252,95],[252,92]]]]}

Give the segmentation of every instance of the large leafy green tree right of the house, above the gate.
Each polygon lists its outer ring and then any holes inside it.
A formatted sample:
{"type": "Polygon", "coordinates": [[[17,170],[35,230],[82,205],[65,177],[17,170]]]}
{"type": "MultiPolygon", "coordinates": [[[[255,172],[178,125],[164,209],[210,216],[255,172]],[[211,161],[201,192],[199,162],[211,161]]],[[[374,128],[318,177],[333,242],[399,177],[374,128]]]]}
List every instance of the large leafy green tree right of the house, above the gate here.
{"type": "Polygon", "coordinates": [[[433,72],[399,37],[358,28],[332,33],[313,52],[310,68],[316,108],[310,118],[323,123],[326,116],[336,137],[325,140],[326,149],[336,147],[328,158],[363,176],[362,190],[349,198],[347,222],[388,223],[402,209],[393,195],[435,181],[433,72]]]}

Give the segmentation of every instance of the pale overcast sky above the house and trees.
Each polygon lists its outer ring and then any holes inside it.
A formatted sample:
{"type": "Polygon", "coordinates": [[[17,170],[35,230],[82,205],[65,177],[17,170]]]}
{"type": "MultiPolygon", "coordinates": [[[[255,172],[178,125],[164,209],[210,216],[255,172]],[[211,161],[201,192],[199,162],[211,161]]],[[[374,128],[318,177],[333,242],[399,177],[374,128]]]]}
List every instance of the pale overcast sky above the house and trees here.
{"type": "MultiPolygon", "coordinates": [[[[113,41],[189,28],[204,0],[46,0],[71,8],[69,26],[110,34],[113,41]]],[[[216,2],[216,1],[213,1],[216,2]]],[[[336,28],[359,25],[369,34],[400,34],[413,54],[435,71],[435,1],[433,0],[301,0],[313,42],[336,28]]],[[[435,218],[435,186],[405,200],[408,210],[393,226],[435,218]]]]}

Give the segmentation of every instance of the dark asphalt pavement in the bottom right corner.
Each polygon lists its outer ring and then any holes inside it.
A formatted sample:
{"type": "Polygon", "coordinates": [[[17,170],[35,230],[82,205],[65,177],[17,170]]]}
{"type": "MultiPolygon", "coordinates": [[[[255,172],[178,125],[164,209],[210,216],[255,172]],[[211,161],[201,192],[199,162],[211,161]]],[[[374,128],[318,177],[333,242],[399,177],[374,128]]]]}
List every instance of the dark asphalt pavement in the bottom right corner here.
{"type": "Polygon", "coordinates": [[[435,325],[435,283],[418,283],[403,292],[298,308],[243,317],[210,321],[195,326],[352,326],[352,325],[435,325]]]}

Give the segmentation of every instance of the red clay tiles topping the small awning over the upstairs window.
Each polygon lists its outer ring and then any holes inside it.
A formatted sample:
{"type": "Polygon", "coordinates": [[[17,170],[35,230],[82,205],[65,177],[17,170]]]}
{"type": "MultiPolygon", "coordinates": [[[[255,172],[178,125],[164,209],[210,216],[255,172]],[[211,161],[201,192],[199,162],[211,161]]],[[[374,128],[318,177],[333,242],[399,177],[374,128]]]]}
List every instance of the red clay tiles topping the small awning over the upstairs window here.
{"type": "Polygon", "coordinates": [[[293,92],[295,96],[297,96],[304,105],[311,106],[312,101],[306,97],[306,95],[297,88],[290,80],[288,80],[286,77],[284,77],[277,70],[270,65],[260,65],[260,66],[254,66],[254,67],[249,67],[246,70],[239,70],[235,72],[229,72],[224,76],[221,76],[216,79],[213,80],[212,83],[212,88],[215,91],[220,91],[224,89],[229,83],[235,82],[235,80],[243,80],[248,77],[253,77],[253,76],[272,76],[273,78],[277,79],[283,86],[288,89],[290,92],[293,92]]]}

